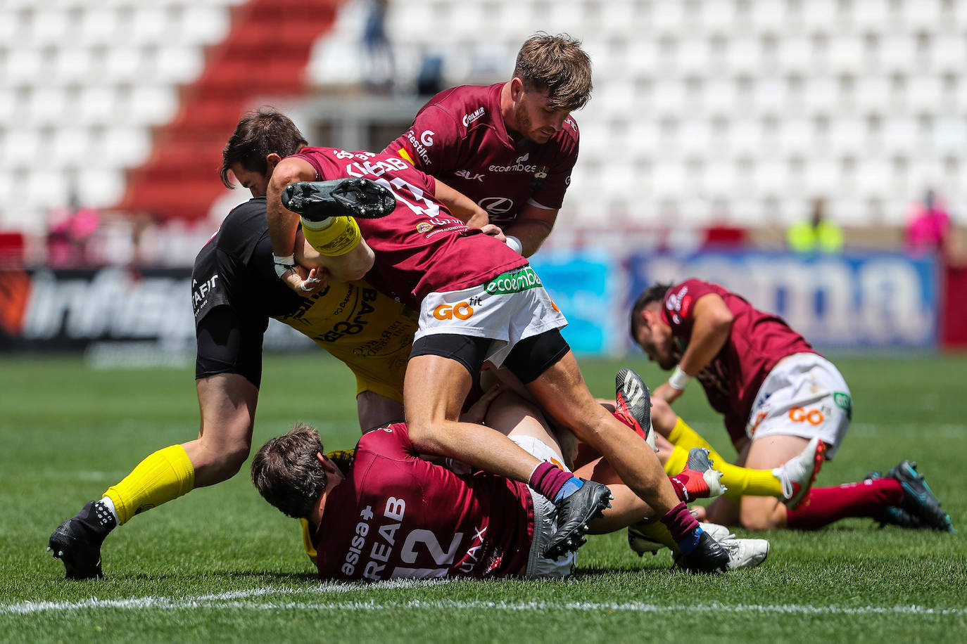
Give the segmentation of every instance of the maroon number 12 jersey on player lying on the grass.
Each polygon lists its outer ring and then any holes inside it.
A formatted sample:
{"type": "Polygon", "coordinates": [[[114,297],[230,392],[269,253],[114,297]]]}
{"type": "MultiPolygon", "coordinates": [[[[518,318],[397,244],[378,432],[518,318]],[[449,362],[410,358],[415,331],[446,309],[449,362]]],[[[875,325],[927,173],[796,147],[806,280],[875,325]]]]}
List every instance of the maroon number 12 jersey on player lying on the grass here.
{"type": "Polygon", "coordinates": [[[341,581],[523,574],[533,533],[524,484],[426,462],[396,423],[360,439],[326,500],[316,566],[341,581]]]}

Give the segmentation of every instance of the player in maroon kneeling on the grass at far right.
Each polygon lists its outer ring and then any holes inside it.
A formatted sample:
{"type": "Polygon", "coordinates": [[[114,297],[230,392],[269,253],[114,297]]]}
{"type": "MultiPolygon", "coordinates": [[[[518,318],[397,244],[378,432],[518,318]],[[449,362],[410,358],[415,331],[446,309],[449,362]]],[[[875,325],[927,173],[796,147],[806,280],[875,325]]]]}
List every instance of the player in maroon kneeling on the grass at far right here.
{"type": "MultiPolygon", "coordinates": [[[[835,366],[774,315],[716,284],[689,279],[649,287],[630,314],[630,333],[649,358],[674,370],[653,392],[654,426],[676,447],[712,447],[667,405],[697,378],[709,404],[724,415],[739,453],[736,464],[777,467],[821,441],[827,459],[852,417],[849,388],[835,366]]],[[[681,450],[678,452],[681,460],[681,450]]],[[[724,462],[712,450],[716,462],[724,462]]],[[[727,470],[727,467],[725,467],[727,470]]],[[[839,518],[952,531],[950,517],[915,464],[903,461],[888,476],[861,484],[791,490],[787,507],[775,496],[727,496],[699,516],[749,529],[816,529],[839,518]]],[[[703,512],[703,511],[700,511],[703,512]]]]}

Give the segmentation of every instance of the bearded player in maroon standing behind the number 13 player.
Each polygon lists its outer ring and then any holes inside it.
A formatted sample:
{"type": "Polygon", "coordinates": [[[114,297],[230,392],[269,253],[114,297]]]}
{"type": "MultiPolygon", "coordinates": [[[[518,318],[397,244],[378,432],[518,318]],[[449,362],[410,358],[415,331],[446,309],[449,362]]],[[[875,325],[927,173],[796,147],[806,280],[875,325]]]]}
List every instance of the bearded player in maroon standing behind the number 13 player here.
{"type": "Polygon", "coordinates": [[[579,134],[571,111],[587,103],[591,89],[591,61],[580,42],[538,34],[520,47],[511,80],[430,98],[384,152],[466,195],[503,233],[485,230],[530,257],[554,227],[571,183],[579,134]]]}

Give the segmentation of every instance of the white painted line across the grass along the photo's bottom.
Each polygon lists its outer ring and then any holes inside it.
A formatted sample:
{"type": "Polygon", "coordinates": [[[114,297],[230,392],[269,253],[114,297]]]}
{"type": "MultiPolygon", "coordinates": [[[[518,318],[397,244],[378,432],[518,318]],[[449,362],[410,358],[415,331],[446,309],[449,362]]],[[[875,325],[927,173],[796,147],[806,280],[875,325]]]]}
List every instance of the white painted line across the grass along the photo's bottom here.
{"type": "MultiPolygon", "coordinates": [[[[419,582],[386,582],[366,586],[366,589],[406,588],[419,582]]],[[[419,585],[430,585],[419,583],[419,585]]],[[[0,604],[0,615],[25,615],[43,612],[61,612],[91,609],[124,610],[185,610],[194,608],[245,609],[245,610],[347,610],[375,612],[381,610],[497,610],[497,611],[623,611],[637,613],[706,612],[706,613],[757,613],[757,614],[810,614],[810,615],[967,615],[967,608],[931,608],[928,606],[817,606],[811,604],[727,604],[720,602],[660,605],[643,602],[457,602],[452,600],[409,602],[290,602],[273,601],[273,597],[305,594],[333,594],[359,592],[364,587],[348,584],[321,584],[313,588],[279,589],[254,588],[195,597],[134,597],[123,600],[99,600],[91,598],[80,602],[19,602],[0,604]],[[257,598],[261,598],[258,600],[257,598]],[[248,600],[248,601],[247,601],[248,600]]]]}

